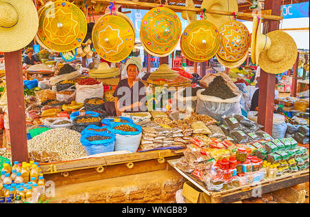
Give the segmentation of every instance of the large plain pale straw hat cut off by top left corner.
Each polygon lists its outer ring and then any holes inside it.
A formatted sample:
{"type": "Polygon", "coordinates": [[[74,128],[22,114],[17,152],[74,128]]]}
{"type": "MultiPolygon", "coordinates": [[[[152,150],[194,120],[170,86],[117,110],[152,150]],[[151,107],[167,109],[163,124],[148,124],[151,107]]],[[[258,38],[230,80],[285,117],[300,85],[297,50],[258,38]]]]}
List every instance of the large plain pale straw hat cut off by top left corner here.
{"type": "Polygon", "coordinates": [[[31,0],[0,0],[0,52],[21,50],[37,34],[39,19],[31,0]]]}

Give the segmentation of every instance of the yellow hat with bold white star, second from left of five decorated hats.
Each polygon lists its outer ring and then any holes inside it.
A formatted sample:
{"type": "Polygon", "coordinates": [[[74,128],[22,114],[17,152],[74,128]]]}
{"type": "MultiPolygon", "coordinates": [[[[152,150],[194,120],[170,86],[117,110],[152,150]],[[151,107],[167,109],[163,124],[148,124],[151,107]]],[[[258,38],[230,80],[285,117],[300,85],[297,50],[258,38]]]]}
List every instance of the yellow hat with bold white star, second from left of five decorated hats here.
{"type": "Polygon", "coordinates": [[[123,16],[104,15],[92,30],[94,48],[109,62],[119,62],[126,59],[134,48],[135,33],[130,22],[123,16]]]}

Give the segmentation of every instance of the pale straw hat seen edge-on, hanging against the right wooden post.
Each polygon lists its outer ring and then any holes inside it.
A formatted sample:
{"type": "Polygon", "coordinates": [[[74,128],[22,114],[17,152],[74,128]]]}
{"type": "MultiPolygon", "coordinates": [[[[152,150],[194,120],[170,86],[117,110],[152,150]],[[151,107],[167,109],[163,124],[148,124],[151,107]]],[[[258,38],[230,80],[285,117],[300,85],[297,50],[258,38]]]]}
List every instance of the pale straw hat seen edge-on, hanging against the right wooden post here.
{"type": "MultiPolygon", "coordinates": [[[[256,45],[255,45],[255,58],[256,63],[258,63],[258,58],[260,56],[260,52],[264,50],[268,50],[271,46],[271,40],[266,34],[262,34],[262,19],[258,23],[258,29],[256,32],[256,45]]],[[[259,64],[259,63],[258,63],[259,64]]]]}

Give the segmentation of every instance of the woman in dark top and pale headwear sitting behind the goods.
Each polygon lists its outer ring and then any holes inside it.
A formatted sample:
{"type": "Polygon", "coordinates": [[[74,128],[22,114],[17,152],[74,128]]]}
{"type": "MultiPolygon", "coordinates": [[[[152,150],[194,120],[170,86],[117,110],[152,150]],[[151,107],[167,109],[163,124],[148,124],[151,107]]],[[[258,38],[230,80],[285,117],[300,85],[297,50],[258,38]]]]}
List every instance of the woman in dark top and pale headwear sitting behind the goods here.
{"type": "Polygon", "coordinates": [[[105,103],[110,116],[121,116],[123,112],[147,112],[145,86],[137,79],[142,70],[141,59],[132,57],[126,62],[127,79],[121,80],[113,94],[114,103],[105,103]]]}

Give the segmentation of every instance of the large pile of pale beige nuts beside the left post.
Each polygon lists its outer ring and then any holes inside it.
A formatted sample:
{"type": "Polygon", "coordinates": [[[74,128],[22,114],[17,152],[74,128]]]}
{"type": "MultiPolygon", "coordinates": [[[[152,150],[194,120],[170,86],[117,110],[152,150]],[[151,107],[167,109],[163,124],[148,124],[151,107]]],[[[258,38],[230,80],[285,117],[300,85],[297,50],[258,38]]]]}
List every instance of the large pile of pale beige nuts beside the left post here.
{"type": "Polygon", "coordinates": [[[28,140],[28,152],[56,152],[61,161],[71,161],[87,156],[80,139],[79,132],[59,127],[28,140]]]}

